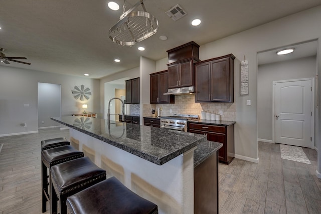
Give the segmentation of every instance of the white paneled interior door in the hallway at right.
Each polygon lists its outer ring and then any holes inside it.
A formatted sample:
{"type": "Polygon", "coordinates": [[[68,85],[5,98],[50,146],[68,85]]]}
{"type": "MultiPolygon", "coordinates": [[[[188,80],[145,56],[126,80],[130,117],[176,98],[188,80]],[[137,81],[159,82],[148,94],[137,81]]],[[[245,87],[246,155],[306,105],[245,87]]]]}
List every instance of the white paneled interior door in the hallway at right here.
{"type": "Polygon", "coordinates": [[[312,148],[312,81],[273,82],[275,142],[312,148]]]}

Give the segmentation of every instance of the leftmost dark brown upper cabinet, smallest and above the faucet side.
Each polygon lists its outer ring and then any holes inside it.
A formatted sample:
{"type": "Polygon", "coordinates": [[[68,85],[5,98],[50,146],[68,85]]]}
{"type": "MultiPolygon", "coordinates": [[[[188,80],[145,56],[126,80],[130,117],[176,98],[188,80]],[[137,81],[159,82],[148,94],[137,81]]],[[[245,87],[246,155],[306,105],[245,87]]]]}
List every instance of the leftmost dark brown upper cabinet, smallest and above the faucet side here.
{"type": "Polygon", "coordinates": [[[139,77],[126,80],[126,104],[139,104],[139,77]]]}

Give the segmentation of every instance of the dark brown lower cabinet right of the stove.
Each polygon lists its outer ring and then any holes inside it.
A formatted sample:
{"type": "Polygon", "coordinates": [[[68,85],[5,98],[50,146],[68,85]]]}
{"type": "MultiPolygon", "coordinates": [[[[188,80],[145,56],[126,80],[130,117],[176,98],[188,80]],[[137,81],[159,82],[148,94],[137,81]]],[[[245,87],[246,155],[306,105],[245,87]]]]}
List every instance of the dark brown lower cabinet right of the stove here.
{"type": "Polygon", "coordinates": [[[206,134],[207,140],[223,143],[218,152],[220,162],[230,164],[234,159],[234,124],[218,126],[190,122],[189,132],[206,134]]]}

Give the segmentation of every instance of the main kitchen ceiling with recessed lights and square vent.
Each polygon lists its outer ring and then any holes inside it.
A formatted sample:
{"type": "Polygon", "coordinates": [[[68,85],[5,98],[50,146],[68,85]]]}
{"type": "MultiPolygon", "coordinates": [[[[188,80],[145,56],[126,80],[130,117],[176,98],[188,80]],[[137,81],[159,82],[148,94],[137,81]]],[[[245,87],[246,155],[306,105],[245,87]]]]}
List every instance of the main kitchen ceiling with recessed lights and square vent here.
{"type": "MultiPolygon", "coordinates": [[[[138,0],[127,0],[126,10],[138,0]]],[[[102,78],[139,66],[139,57],[167,57],[167,50],[195,41],[199,45],[321,5],[320,0],[146,0],[148,13],[157,18],[158,32],[133,47],[114,44],[108,30],[122,14],[111,11],[106,0],[10,0],[1,1],[0,48],[9,57],[27,57],[25,65],[2,66],[102,78]],[[179,4],[187,16],[178,21],[165,12],[179,4]],[[195,18],[201,25],[191,26],[195,18]],[[165,35],[167,41],[159,40],[165,35]],[[145,47],[140,52],[137,47],[145,47]],[[120,63],[113,60],[119,58],[120,63]]],[[[136,10],[142,11],[139,6],[136,10]]],[[[202,60],[202,59],[201,59],[202,60]]],[[[22,60],[23,61],[23,60],[22,60]]]]}

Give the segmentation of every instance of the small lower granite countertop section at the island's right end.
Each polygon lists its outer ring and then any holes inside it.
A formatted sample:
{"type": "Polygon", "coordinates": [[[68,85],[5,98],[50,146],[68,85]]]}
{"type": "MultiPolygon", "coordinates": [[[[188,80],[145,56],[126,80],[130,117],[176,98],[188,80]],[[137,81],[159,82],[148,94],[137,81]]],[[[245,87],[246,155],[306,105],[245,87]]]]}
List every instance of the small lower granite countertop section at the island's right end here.
{"type": "Polygon", "coordinates": [[[197,145],[197,149],[194,150],[194,168],[206,160],[214,152],[219,150],[222,146],[223,143],[217,143],[209,140],[197,145]]]}

